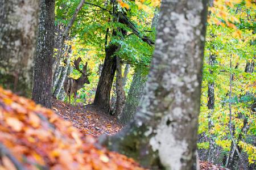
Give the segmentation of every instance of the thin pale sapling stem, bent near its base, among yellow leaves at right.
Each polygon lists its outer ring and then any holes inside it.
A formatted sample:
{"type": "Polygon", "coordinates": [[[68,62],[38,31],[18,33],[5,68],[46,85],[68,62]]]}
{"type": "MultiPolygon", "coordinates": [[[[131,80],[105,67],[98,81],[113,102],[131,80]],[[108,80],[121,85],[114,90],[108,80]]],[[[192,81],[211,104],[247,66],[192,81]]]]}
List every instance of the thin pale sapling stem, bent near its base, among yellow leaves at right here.
{"type": "MultiPolygon", "coordinates": [[[[231,57],[230,57],[230,69],[231,68],[232,68],[232,62],[231,62],[231,57]]],[[[229,78],[229,133],[231,135],[232,142],[234,143],[234,148],[237,151],[237,155],[241,159],[243,168],[246,170],[247,167],[246,167],[245,163],[243,162],[242,155],[240,154],[240,152],[237,148],[237,143],[234,140],[234,135],[233,135],[233,132],[232,132],[232,109],[231,109],[231,105],[232,105],[232,103],[231,103],[231,99],[232,99],[232,96],[231,96],[232,95],[232,79],[233,79],[233,74],[230,72],[230,78],[229,78]]]]}

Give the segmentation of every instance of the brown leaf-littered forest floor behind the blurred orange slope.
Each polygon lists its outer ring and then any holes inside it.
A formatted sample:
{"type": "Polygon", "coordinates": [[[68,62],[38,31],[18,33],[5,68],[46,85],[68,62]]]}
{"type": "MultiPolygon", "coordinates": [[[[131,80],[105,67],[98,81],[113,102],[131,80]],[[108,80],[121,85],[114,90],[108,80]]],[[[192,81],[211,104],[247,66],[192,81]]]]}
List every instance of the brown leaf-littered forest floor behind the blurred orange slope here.
{"type": "MultiPolygon", "coordinates": [[[[64,120],[72,122],[85,135],[114,135],[123,127],[114,117],[106,115],[93,105],[75,106],[63,101],[52,99],[52,110],[64,120]]],[[[201,170],[227,170],[209,162],[200,161],[201,170]]]]}

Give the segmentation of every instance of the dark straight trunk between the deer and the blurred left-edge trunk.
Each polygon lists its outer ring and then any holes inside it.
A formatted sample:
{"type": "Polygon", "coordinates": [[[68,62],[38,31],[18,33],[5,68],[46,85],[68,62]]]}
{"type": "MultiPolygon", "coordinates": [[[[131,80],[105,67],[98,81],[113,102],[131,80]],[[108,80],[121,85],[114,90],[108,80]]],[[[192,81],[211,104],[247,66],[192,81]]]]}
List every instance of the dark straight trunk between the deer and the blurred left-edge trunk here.
{"type": "Polygon", "coordinates": [[[40,7],[32,99],[37,104],[51,108],[55,1],[41,0],[40,7]]]}

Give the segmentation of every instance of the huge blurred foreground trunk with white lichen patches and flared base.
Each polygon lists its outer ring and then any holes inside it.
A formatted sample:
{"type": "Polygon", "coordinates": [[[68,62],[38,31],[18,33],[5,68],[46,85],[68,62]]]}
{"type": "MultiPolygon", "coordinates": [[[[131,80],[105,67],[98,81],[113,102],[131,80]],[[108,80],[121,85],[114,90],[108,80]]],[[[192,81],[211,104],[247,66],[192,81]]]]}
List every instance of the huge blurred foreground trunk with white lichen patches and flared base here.
{"type": "Polygon", "coordinates": [[[162,1],[155,53],[135,120],[101,142],[145,167],[197,168],[206,18],[207,1],[162,1]]]}

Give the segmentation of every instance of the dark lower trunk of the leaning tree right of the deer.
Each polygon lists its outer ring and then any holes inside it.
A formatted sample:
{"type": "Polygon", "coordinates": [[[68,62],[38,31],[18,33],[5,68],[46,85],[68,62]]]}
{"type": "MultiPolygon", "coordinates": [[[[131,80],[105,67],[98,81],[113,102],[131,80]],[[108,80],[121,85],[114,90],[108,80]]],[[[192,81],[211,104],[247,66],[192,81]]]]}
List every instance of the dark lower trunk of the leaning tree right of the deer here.
{"type": "Polygon", "coordinates": [[[93,102],[94,105],[104,109],[106,112],[109,111],[110,91],[117,67],[116,56],[113,56],[117,48],[116,45],[110,45],[106,48],[106,57],[93,102]]]}

